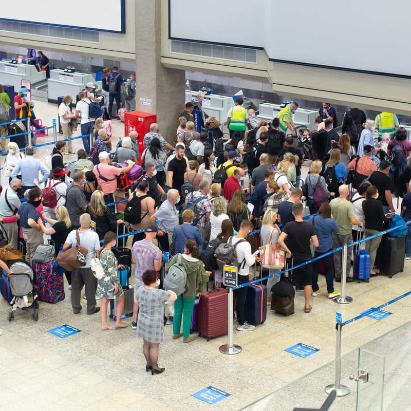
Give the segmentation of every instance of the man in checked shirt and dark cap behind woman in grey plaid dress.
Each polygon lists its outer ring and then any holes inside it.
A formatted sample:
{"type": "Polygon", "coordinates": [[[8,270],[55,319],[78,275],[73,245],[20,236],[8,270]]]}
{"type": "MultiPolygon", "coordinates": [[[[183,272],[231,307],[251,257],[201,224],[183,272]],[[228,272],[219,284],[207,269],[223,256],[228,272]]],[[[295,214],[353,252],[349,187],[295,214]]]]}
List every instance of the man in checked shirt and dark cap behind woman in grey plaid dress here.
{"type": "MultiPolygon", "coordinates": [[[[150,225],[145,229],[145,238],[136,241],[132,248],[132,262],[136,265],[136,270],[134,272],[136,276],[136,289],[143,285],[141,276],[144,271],[155,270],[159,272],[161,270],[161,259],[163,253],[161,250],[153,244],[153,240],[157,236],[157,226],[150,225]]],[[[132,328],[135,330],[137,328],[137,313],[138,304],[134,301],[133,305],[133,321],[132,328]]]]}

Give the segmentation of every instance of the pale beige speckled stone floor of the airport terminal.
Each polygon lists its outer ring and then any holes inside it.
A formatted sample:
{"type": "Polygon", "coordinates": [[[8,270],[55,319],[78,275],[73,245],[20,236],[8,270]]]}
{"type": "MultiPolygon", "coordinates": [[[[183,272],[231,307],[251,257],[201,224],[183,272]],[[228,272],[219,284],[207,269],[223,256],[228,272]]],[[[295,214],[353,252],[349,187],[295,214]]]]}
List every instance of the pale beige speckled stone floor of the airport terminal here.
{"type": "MultiPolygon", "coordinates": [[[[50,125],[51,119],[57,115],[56,104],[36,102],[34,109],[36,116],[46,125],[50,125]]],[[[123,136],[124,128],[118,120],[113,123],[116,140],[123,136]]],[[[49,137],[38,138],[38,143],[51,138],[50,130],[49,137]]],[[[76,150],[81,146],[81,139],[74,141],[76,150]]],[[[50,150],[37,148],[35,156],[43,158],[50,150]]],[[[65,160],[75,160],[76,157],[65,156],[65,160]]],[[[4,159],[0,157],[2,163],[4,159]]],[[[305,169],[307,172],[307,167],[305,169]]],[[[404,271],[393,278],[376,276],[369,283],[348,283],[346,294],[352,296],[353,302],[346,305],[336,304],[327,298],[325,278],[320,275],[319,285],[323,293],[312,297],[310,313],[304,312],[303,293],[296,293],[294,315],[283,317],[269,310],[266,322],[254,331],[234,329],[233,341],[242,347],[242,352],[236,355],[225,355],[218,350],[220,345],[227,343],[227,336],[210,341],[200,337],[183,344],[181,339],[172,340],[172,327],[167,325],[159,354],[159,365],[165,367],[165,371],[154,376],[145,372],[142,340],[136,338],[135,331],[130,326],[101,331],[99,314],[87,315],[83,310],[74,315],[67,283],[64,301],[57,304],[40,302],[38,322],[33,321],[30,310],[17,310],[14,320],[9,322],[10,307],[2,299],[0,410],[239,410],[332,362],[335,357],[335,312],[339,311],[343,319],[348,320],[411,290],[410,271],[411,261],[407,260],[404,271]],[[81,331],[64,339],[48,332],[64,324],[81,331]],[[307,358],[285,351],[298,343],[318,351],[307,358]],[[229,396],[213,405],[192,396],[210,386],[225,391],[229,396]]],[[[131,279],[133,284],[134,275],[131,279]]],[[[339,289],[340,284],[335,285],[339,289]]],[[[372,345],[372,341],[390,333],[386,337],[388,342],[383,343],[384,348],[390,348],[391,354],[397,352],[401,356],[399,361],[406,362],[402,356],[403,349],[411,342],[408,323],[411,296],[384,309],[391,315],[381,321],[364,317],[343,328],[343,356],[364,344],[371,344],[372,350],[377,352],[378,344],[372,345]],[[397,330],[398,327],[401,328],[397,330]]],[[[130,323],[132,320],[125,321],[130,323]]],[[[411,409],[406,396],[402,397],[400,406],[396,397],[398,391],[405,389],[409,392],[409,374],[404,382],[392,367],[398,367],[398,361],[390,361],[388,354],[382,409],[411,409]]],[[[331,410],[356,409],[357,383],[348,377],[357,371],[357,366],[343,367],[342,382],[352,392],[346,397],[339,397],[331,410]]],[[[372,381],[372,374],[370,378],[372,381]]],[[[333,383],[332,373],[326,383],[333,383]]],[[[322,380],[314,375],[250,409],[291,411],[294,406],[320,408],[327,396],[324,386],[322,380]]],[[[361,409],[375,411],[381,408],[370,406],[361,409]]]]}

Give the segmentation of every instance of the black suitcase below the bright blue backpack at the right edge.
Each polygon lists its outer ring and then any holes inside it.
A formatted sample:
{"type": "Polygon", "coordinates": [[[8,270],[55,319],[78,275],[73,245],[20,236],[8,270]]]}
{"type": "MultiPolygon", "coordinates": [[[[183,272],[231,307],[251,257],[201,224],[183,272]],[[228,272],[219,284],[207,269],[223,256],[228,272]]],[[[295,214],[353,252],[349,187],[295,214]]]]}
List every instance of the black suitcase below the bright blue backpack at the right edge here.
{"type": "Polygon", "coordinates": [[[404,271],[405,239],[406,236],[382,236],[375,260],[375,266],[380,269],[380,274],[391,278],[394,274],[404,271]]]}

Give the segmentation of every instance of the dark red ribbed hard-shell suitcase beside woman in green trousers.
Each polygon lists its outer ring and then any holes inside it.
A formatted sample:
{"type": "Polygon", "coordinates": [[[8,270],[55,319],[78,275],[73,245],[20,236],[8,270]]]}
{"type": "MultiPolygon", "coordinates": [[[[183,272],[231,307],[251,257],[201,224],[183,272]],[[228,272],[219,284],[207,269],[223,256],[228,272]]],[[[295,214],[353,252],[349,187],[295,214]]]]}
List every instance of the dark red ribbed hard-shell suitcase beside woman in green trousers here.
{"type": "Polygon", "coordinates": [[[228,333],[228,292],[217,288],[203,292],[198,303],[199,335],[207,338],[220,337],[228,333]]]}

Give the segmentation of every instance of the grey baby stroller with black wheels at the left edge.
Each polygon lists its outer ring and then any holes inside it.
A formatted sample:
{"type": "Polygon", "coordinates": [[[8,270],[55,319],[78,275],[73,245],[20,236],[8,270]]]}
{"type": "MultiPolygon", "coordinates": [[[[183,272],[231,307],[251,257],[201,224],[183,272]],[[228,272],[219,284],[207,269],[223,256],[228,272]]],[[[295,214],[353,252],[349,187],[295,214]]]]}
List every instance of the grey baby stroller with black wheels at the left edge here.
{"type": "Polygon", "coordinates": [[[17,308],[33,307],[33,318],[39,321],[39,303],[36,301],[34,273],[26,260],[13,260],[9,266],[13,273],[9,277],[10,289],[14,295],[11,300],[11,311],[9,312],[9,321],[14,318],[14,311],[17,308]]]}

